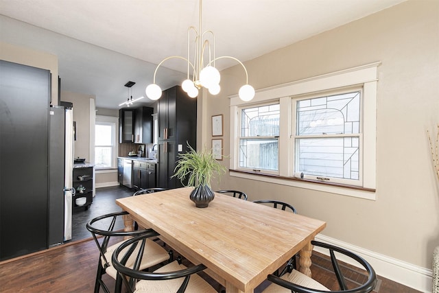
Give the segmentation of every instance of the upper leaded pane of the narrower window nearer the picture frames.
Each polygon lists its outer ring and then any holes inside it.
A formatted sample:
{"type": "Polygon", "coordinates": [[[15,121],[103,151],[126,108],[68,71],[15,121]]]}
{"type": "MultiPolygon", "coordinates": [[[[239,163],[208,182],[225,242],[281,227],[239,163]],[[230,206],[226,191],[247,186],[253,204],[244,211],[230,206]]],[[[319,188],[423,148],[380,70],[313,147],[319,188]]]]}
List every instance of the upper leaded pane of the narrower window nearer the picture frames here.
{"type": "Polygon", "coordinates": [[[246,108],[241,112],[241,137],[279,135],[279,104],[246,108]]]}

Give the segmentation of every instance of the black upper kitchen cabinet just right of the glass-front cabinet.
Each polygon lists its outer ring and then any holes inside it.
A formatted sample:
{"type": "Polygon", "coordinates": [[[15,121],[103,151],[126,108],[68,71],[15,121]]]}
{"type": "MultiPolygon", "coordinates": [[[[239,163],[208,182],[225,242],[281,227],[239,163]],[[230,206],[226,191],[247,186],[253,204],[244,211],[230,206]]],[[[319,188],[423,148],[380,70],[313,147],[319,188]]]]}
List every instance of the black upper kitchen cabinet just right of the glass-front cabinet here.
{"type": "Polygon", "coordinates": [[[154,108],[136,108],[134,113],[134,143],[152,143],[152,113],[154,113],[154,108]]]}

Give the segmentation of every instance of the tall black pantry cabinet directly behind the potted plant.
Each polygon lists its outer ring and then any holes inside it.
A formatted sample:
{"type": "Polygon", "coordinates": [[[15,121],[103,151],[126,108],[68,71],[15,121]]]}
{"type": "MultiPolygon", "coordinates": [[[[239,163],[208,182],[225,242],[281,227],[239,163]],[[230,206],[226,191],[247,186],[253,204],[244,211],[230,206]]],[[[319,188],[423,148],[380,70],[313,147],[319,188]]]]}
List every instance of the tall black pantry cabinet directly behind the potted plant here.
{"type": "Polygon", "coordinates": [[[178,154],[187,152],[187,143],[195,148],[197,133],[197,99],[180,86],[163,91],[158,99],[157,187],[182,187],[174,175],[178,154]]]}

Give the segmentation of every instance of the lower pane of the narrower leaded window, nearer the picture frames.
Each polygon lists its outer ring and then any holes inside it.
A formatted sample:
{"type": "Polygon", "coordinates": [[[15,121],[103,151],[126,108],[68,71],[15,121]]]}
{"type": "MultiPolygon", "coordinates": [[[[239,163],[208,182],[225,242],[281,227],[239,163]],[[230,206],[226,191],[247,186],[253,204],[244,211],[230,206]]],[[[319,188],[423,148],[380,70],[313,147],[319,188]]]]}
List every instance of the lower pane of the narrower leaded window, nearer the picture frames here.
{"type": "Polygon", "coordinates": [[[277,139],[239,139],[239,167],[278,169],[277,139]]]}

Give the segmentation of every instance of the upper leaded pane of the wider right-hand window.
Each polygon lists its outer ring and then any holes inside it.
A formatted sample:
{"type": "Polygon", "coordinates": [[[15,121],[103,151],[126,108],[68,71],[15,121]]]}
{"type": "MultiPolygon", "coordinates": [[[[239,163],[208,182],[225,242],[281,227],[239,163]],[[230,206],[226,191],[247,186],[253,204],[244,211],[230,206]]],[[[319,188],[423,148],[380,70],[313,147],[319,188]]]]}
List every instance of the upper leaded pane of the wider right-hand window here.
{"type": "Polygon", "coordinates": [[[360,92],[297,102],[297,135],[359,133],[360,92]]]}

